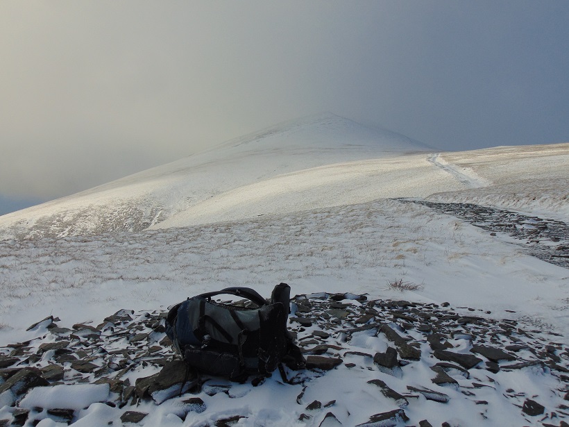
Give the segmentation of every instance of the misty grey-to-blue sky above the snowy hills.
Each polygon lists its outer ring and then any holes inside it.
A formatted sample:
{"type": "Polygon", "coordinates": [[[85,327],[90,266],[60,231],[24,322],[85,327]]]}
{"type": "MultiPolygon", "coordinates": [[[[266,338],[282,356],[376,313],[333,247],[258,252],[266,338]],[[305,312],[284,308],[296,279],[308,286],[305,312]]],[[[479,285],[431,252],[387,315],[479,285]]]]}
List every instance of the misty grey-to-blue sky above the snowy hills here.
{"type": "Polygon", "coordinates": [[[569,2],[0,2],[0,215],[329,111],[569,142],[569,2]]]}

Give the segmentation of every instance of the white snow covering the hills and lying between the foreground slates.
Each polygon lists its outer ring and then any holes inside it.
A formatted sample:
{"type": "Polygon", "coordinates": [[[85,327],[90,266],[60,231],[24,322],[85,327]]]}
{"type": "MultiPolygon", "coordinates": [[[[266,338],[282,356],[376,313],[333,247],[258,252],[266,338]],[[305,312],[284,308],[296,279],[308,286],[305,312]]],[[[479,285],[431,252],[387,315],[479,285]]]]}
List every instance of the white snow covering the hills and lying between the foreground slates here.
{"type": "MultiPolygon", "coordinates": [[[[0,346],[44,336],[44,327],[26,328],[49,315],[60,317],[59,326],[99,324],[121,308],[165,309],[228,286],[254,287],[269,296],[280,282],[289,283],[293,294],[448,301],[459,312],[474,308],[493,319],[515,319],[561,333],[558,340],[567,342],[567,269],[529,256],[507,237],[389,199],[480,203],[569,221],[567,176],[569,144],[436,154],[400,135],[333,115],[282,124],[0,217],[0,346]],[[128,219],[130,226],[109,225],[118,206],[125,210],[117,224],[128,219]],[[140,218],[145,229],[137,228],[140,218]],[[389,290],[387,283],[396,279],[423,286],[389,290]]],[[[385,350],[365,334],[354,338],[356,344],[385,350]]],[[[131,383],[153,373],[131,373],[131,383]]],[[[373,386],[362,390],[362,380],[374,375],[400,387],[397,378],[386,379],[380,371],[334,369],[315,378],[310,390],[318,390],[321,401],[343,399],[350,408],[393,410],[377,399],[373,386]]],[[[419,383],[432,371],[421,365],[413,375],[419,383]]],[[[294,401],[300,386],[282,385],[276,377],[262,387],[232,389],[240,395],[236,399],[216,394],[206,412],[189,412],[183,422],[175,416],[176,399],[136,410],[150,411],[141,423],[146,426],[205,426],[239,414],[250,418],[237,426],[305,425],[294,408],[278,405],[294,401]]],[[[532,369],[494,379],[497,390],[481,392],[488,401],[509,387],[540,396],[553,387],[552,378],[532,369]]],[[[65,401],[65,408],[78,410],[74,425],[120,425],[124,410],[98,403],[105,393],[108,385],[36,387],[21,404],[58,408],[65,401]]],[[[461,426],[482,425],[479,413],[486,409],[485,425],[527,422],[506,403],[479,408],[458,399],[457,390],[445,394],[461,426]]],[[[1,399],[0,419],[9,412],[1,399]]],[[[314,399],[304,397],[307,403],[314,399]]],[[[418,399],[419,409],[407,411],[411,419],[449,421],[439,403],[418,399]]],[[[347,425],[347,412],[334,415],[347,425]]],[[[58,424],[43,419],[39,425],[58,424]]]]}

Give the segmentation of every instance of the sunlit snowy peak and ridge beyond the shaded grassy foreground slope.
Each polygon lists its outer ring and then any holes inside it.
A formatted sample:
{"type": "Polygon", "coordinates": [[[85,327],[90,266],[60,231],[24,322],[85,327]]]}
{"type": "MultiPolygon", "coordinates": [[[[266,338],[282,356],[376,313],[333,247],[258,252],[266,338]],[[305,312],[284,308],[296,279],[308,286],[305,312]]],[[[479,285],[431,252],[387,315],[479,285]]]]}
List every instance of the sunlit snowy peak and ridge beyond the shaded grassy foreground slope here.
{"type": "Polygon", "coordinates": [[[567,203],[555,189],[569,173],[568,147],[437,153],[404,135],[312,115],[3,215],[0,238],[197,226],[398,197],[462,201],[466,191],[492,206],[539,197],[540,209],[563,216],[567,203]]]}

